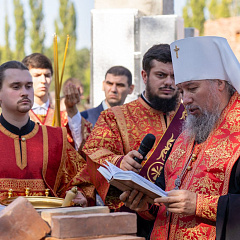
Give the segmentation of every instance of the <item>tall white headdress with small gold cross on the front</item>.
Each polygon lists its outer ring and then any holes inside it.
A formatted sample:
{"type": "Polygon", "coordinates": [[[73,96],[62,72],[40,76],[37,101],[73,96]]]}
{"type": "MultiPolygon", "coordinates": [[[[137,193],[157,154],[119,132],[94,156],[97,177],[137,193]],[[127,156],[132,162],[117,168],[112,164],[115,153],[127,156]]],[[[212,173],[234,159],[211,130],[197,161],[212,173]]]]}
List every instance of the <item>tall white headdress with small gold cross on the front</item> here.
{"type": "Polygon", "coordinates": [[[190,37],[170,44],[175,83],[228,81],[240,93],[240,64],[222,37],[190,37]]]}

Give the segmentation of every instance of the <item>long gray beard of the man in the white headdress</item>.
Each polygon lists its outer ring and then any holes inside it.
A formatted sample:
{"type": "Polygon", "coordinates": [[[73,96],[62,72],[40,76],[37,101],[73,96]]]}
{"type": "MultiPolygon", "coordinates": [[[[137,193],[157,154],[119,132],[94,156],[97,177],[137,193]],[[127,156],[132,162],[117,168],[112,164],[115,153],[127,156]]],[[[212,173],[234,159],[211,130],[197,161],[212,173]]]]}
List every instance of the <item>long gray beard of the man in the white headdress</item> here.
{"type": "Polygon", "coordinates": [[[200,116],[189,114],[183,125],[183,131],[186,130],[186,140],[194,138],[198,144],[205,142],[220,117],[221,113],[217,110],[215,112],[201,110],[200,116]]]}

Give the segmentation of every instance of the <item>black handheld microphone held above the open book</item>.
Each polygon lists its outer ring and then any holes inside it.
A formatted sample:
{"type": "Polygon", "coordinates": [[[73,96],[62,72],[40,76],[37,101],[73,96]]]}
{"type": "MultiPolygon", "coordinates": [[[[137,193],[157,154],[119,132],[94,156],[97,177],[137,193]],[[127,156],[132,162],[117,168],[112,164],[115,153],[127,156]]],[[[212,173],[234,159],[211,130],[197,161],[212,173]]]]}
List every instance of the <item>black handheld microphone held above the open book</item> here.
{"type": "Polygon", "coordinates": [[[141,155],[143,156],[143,159],[139,159],[137,157],[134,157],[133,159],[138,162],[138,163],[142,163],[142,161],[144,160],[144,158],[146,157],[146,155],[148,154],[148,152],[152,149],[154,143],[155,143],[156,137],[151,134],[148,133],[142,140],[140,147],[138,149],[138,152],[141,153],[141,155]]]}

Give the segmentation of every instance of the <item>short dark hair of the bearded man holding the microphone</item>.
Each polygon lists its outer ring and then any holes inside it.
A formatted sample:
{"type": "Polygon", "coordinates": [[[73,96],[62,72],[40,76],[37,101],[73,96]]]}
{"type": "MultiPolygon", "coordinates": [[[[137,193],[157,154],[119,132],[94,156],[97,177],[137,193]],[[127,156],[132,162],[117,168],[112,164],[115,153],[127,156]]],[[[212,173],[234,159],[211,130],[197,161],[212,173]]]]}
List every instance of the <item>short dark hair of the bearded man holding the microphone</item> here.
{"type": "Polygon", "coordinates": [[[146,71],[149,76],[151,68],[153,67],[152,61],[157,60],[158,62],[168,63],[172,62],[171,50],[169,44],[158,44],[153,45],[144,54],[142,60],[142,68],[146,71]]]}

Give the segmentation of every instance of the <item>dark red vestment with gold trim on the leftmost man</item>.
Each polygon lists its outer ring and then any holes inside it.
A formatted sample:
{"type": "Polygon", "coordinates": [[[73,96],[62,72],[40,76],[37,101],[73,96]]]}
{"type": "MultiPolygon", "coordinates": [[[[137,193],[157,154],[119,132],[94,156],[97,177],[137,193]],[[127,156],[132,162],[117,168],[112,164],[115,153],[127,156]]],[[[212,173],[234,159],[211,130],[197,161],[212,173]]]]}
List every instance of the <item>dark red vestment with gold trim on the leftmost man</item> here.
{"type": "Polygon", "coordinates": [[[9,132],[0,124],[0,199],[13,196],[64,197],[71,186],[78,186],[94,203],[94,187],[85,172],[86,161],[67,141],[66,128],[39,126],[21,137],[9,132]],[[21,149],[20,149],[21,146],[21,149]],[[83,169],[83,170],[82,170],[83,169]]]}

